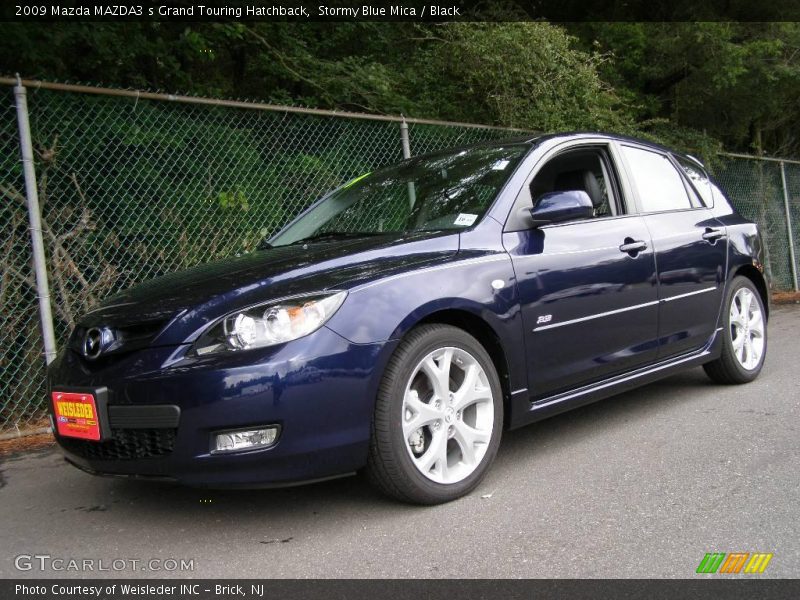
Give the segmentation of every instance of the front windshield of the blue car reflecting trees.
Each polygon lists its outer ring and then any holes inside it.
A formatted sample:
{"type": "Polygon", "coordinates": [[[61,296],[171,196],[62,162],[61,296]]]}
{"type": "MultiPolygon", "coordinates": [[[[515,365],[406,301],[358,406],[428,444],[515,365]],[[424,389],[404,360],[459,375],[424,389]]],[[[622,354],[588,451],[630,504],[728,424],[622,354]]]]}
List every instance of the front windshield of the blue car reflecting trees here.
{"type": "Polygon", "coordinates": [[[469,148],[361,175],[294,221],[271,245],[471,227],[527,151],[524,144],[469,148]]]}

